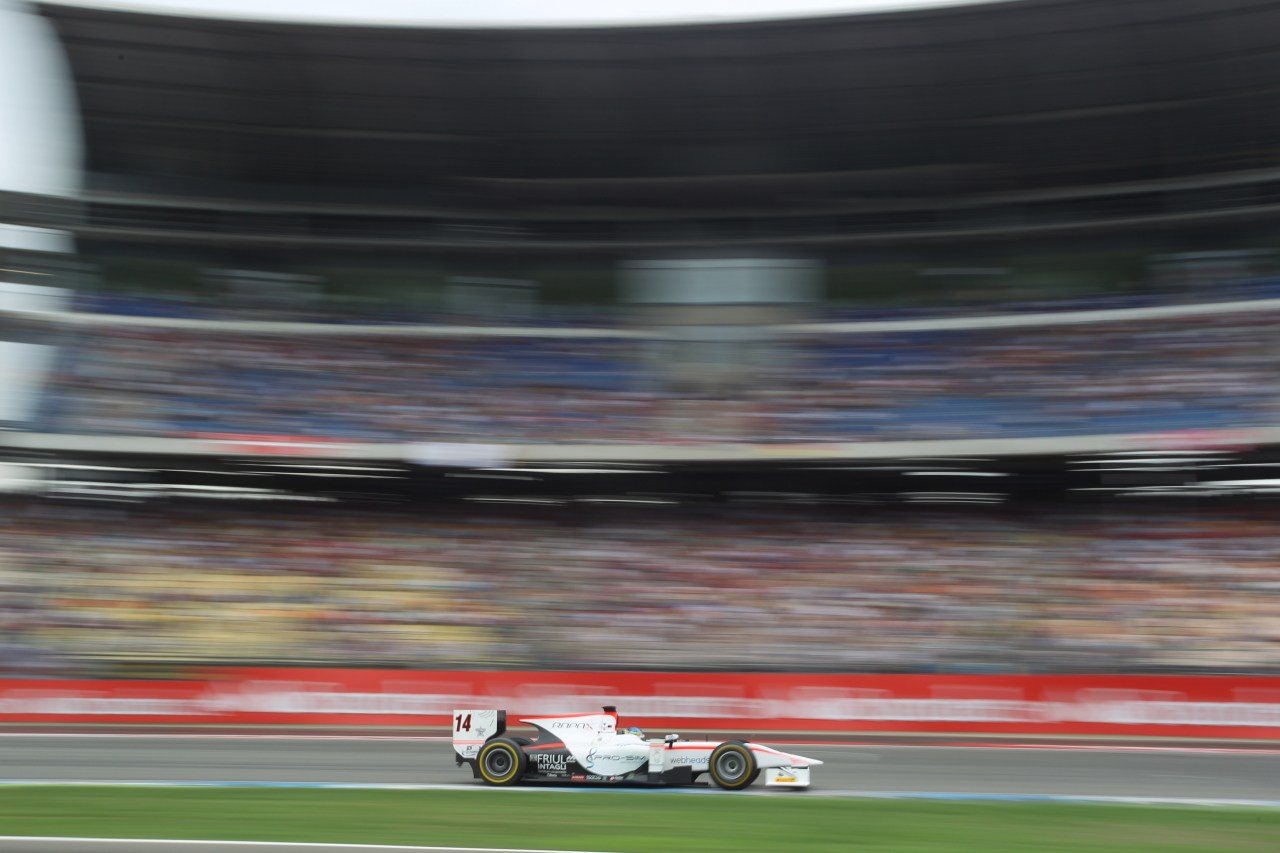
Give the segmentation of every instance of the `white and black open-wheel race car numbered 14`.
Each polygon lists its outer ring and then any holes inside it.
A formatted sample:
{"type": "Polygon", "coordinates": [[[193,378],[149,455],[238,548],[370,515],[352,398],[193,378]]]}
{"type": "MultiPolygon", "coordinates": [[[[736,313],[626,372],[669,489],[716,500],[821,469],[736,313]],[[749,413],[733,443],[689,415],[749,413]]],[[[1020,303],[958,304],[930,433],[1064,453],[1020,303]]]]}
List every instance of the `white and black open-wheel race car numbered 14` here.
{"type": "Polygon", "coordinates": [[[726,790],[741,790],[764,775],[767,786],[808,788],[809,768],[822,762],[745,740],[645,738],[622,729],[618,712],[525,717],[536,738],[507,734],[507,712],[453,712],[453,752],[475,779],[489,785],[522,781],[692,785],[707,774],[726,790]]]}

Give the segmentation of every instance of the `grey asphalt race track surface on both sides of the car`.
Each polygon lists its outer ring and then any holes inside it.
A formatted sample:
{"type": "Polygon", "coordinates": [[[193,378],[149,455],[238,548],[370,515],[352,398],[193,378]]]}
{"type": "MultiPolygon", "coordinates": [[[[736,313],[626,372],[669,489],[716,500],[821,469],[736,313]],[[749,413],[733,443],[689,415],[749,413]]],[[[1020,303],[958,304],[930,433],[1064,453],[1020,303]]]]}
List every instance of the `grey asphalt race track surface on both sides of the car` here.
{"type": "MultiPolygon", "coordinates": [[[[824,761],[813,771],[814,794],[1280,802],[1280,744],[760,740],[824,761]]],[[[4,733],[0,783],[15,781],[483,786],[467,768],[454,766],[447,739],[398,735],[4,733]]]]}

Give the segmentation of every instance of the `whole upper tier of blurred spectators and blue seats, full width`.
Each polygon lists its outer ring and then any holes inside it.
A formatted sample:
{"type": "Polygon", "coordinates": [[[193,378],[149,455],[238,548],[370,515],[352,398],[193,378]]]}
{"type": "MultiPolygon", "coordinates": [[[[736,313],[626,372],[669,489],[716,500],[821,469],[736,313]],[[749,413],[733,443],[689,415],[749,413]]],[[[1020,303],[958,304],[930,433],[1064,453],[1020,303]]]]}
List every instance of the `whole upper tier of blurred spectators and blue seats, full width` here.
{"type": "Polygon", "coordinates": [[[357,441],[1034,437],[1270,425],[1274,315],[636,338],[96,329],[67,339],[37,429],[357,441]]]}

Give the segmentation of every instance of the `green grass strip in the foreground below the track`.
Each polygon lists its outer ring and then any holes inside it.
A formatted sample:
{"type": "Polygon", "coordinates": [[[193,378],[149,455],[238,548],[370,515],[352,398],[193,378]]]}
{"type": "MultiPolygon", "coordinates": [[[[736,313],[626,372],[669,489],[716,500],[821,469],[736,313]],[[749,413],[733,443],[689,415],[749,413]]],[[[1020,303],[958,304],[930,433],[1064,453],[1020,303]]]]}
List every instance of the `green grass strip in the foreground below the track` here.
{"type": "Polygon", "coordinates": [[[1280,811],[602,790],[0,789],[0,834],[617,853],[1280,850],[1280,811]]]}

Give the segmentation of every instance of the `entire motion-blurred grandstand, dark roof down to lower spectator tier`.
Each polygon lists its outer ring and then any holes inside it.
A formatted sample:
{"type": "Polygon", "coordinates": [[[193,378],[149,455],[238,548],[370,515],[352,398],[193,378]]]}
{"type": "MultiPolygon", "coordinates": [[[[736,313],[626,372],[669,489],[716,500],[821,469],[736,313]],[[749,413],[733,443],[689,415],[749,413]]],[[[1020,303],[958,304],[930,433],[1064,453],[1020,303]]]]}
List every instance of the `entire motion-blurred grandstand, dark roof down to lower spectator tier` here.
{"type": "Polygon", "coordinates": [[[1275,674],[1277,33],[6,0],[0,675],[1275,674]]]}

